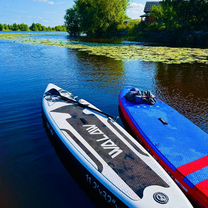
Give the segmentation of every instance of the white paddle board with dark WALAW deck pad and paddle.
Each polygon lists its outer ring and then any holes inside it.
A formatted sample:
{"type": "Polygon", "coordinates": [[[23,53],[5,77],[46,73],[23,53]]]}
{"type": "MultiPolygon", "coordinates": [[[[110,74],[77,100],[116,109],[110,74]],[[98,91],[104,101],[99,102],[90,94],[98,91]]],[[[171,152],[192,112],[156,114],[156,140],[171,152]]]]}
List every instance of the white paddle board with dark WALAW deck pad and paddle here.
{"type": "Polygon", "coordinates": [[[42,105],[50,131],[108,206],[192,207],[156,160],[108,114],[53,84],[42,105]]]}

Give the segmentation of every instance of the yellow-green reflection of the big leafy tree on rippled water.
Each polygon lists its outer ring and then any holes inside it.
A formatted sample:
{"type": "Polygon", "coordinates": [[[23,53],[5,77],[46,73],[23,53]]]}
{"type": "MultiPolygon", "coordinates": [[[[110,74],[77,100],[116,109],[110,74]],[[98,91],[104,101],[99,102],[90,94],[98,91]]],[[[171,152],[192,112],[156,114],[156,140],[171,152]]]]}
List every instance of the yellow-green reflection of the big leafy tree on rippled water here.
{"type": "Polygon", "coordinates": [[[86,52],[75,51],[75,53],[78,61],[87,68],[87,70],[80,70],[80,76],[87,76],[91,79],[88,81],[100,82],[104,86],[117,86],[122,82],[125,69],[122,61],[89,55],[86,52]]]}

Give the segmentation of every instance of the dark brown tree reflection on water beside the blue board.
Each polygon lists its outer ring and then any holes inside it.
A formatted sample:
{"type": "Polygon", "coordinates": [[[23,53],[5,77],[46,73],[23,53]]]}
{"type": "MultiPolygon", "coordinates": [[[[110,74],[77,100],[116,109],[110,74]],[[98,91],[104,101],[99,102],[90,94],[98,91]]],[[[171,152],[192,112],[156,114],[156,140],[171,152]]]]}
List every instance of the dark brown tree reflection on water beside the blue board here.
{"type": "Polygon", "coordinates": [[[157,94],[208,132],[208,66],[158,64],[157,94]]]}

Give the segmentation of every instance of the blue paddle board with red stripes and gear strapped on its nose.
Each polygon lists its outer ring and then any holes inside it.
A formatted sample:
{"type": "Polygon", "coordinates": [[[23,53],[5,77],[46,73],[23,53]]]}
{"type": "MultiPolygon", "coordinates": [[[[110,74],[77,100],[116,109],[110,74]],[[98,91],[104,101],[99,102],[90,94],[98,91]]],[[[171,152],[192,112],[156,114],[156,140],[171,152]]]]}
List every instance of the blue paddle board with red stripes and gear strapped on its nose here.
{"type": "Polygon", "coordinates": [[[121,91],[132,133],[200,207],[208,208],[208,135],[149,92],[121,91]]]}

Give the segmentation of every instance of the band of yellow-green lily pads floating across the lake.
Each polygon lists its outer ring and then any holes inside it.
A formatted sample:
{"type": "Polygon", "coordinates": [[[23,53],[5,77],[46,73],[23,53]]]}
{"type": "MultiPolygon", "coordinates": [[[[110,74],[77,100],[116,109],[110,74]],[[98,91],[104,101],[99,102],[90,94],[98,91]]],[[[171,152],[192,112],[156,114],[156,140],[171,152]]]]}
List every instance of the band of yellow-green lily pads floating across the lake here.
{"type": "Polygon", "coordinates": [[[26,35],[0,35],[0,39],[12,39],[24,44],[56,46],[84,51],[91,55],[105,56],[115,60],[141,60],[166,64],[200,63],[208,64],[208,49],[171,48],[87,44],[78,41],[51,41],[25,38],[26,35]],[[12,38],[14,36],[14,38],[12,38]],[[24,38],[23,38],[24,37],[24,38]]]}

